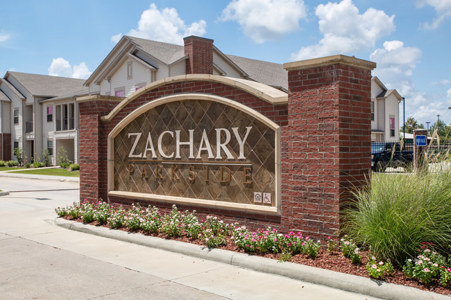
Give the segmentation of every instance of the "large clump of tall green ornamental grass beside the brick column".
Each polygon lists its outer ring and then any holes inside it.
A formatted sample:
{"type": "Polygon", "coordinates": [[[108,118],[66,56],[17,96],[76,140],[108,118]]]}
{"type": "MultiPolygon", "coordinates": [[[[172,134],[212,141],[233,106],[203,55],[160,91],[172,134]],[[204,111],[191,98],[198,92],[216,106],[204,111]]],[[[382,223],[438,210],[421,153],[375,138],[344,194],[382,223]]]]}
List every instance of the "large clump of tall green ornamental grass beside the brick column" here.
{"type": "MultiPolygon", "coordinates": [[[[368,185],[369,186],[369,185],[368,185]]],[[[451,171],[373,174],[371,188],[355,193],[344,230],[359,245],[402,265],[422,243],[451,250],[451,171]]]]}

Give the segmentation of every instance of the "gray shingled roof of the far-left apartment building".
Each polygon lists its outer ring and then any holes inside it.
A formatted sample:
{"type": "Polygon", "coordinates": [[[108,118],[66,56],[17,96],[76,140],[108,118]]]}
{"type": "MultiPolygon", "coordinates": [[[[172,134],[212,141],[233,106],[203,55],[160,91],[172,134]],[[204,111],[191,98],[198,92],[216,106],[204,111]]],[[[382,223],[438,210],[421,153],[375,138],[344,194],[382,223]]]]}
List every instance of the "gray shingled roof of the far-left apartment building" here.
{"type": "Polygon", "coordinates": [[[19,81],[34,96],[56,97],[83,89],[84,79],[49,75],[11,72],[10,76],[19,81]]]}

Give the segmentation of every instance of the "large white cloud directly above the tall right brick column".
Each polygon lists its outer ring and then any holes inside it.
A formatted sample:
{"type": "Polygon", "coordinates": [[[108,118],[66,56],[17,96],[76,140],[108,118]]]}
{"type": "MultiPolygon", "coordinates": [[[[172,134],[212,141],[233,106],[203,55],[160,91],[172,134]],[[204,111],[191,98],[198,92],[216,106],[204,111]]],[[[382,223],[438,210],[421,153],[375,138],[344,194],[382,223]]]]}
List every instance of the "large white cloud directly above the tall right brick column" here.
{"type": "Polygon", "coordinates": [[[292,60],[305,60],[333,54],[366,51],[375,42],[395,30],[394,15],[368,8],[363,14],[351,0],[320,4],[315,10],[323,39],[291,54],[292,60]]]}

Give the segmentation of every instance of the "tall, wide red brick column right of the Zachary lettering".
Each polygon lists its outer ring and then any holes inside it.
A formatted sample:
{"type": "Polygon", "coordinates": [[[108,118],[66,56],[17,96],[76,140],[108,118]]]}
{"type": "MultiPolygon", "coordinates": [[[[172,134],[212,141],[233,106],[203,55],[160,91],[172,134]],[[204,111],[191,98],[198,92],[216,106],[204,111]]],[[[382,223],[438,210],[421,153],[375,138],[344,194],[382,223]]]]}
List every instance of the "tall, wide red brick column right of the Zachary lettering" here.
{"type": "Polygon", "coordinates": [[[288,125],[282,127],[282,223],[336,235],[351,188],[371,168],[371,70],[344,55],[284,64],[288,125]]]}

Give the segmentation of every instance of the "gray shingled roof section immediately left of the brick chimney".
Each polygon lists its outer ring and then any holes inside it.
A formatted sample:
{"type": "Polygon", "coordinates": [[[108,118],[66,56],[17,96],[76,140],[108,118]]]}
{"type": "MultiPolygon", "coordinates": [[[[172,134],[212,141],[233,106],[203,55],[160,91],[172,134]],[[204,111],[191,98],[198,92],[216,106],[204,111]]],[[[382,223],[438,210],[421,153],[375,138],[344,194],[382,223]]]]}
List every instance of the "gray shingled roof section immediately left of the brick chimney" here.
{"type": "Polygon", "coordinates": [[[185,48],[180,45],[140,39],[139,37],[130,37],[129,35],[127,37],[137,45],[137,48],[161,60],[165,64],[171,64],[185,56],[185,48]]]}

